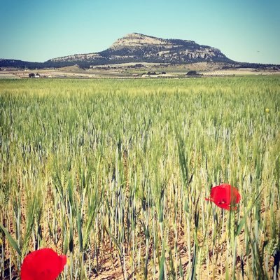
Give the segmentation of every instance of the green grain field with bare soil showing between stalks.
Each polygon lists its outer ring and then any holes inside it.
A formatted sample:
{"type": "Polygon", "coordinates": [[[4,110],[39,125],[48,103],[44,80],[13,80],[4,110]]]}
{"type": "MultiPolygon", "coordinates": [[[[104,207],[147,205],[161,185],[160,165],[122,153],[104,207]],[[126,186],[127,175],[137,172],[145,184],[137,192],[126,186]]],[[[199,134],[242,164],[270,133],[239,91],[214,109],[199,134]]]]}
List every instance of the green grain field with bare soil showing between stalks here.
{"type": "Polygon", "coordinates": [[[279,76],[0,80],[0,110],[0,279],[43,247],[60,279],[280,276],[279,76]]]}

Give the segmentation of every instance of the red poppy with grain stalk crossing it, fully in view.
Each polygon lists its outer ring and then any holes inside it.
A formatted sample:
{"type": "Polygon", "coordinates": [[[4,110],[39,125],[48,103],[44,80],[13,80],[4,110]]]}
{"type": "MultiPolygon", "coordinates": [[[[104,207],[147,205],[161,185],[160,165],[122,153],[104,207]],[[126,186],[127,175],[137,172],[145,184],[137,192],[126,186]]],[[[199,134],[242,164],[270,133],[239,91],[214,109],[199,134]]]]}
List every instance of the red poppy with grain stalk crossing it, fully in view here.
{"type": "Polygon", "coordinates": [[[240,202],[241,196],[237,188],[232,187],[228,184],[223,184],[211,188],[210,198],[205,198],[205,200],[210,200],[214,202],[218,207],[226,210],[236,210],[236,204],[240,202]]]}

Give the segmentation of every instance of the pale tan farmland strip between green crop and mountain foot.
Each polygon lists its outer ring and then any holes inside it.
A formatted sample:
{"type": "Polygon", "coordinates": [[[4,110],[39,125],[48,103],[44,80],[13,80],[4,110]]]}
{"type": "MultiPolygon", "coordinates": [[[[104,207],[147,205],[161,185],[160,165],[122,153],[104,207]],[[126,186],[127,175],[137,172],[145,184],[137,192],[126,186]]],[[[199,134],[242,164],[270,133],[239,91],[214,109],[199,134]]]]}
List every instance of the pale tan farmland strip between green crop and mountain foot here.
{"type": "MultiPolygon", "coordinates": [[[[280,67],[280,66],[279,66],[280,67]]],[[[92,66],[90,69],[76,66],[66,66],[56,69],[0,69],[0,79],[29,78],[30,73],[38,73],[40,78],[189,78],[188,71],[197,71],[203,77],[209,76],[280,76],[279,69],[272,67],[263,69],[224,69],[224,64],[197,62],[193,64],[107,64],[92,66]],[[137,66],[141,65],[141,66],[137,66]]]]}

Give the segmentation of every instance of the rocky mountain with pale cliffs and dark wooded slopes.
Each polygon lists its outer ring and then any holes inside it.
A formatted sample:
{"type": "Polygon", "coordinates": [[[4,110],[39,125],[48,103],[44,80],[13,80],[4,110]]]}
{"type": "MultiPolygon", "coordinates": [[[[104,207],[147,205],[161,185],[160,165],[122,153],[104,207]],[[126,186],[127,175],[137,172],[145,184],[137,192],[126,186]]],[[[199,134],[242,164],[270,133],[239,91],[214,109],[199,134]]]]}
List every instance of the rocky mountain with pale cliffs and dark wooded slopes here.
{"type": "MultiPolygon", "coordinates": [[[[14,59],[0,59],[0,67],[14,66],[26,68],[62,67],[77,64],[90,67],[102,64],[127,62],[152,62],[167,64],[188,64],[195,62],[223,62],[229,66],[253,67],[269,64],[250,64],[234,62],[221,50],[209,45],[199,45],[195,41],[163,39],[139,33],[127,34],[119,38],[110,48],[101,52],[81,55],[68,55],[52,58],[46,62],[22,62],[14,59]]],[[[226,66],[225,66],[226,67],[226,66]]]]}

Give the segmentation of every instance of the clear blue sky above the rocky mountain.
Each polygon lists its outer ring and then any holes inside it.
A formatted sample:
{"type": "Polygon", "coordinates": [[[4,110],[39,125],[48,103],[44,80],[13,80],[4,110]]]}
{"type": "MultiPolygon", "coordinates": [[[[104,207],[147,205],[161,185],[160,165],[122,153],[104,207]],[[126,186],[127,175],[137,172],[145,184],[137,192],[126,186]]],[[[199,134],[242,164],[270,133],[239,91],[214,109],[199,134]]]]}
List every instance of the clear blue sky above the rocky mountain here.
{"type": "Polygon", "coordinates": [[[98,52],[138,32],[193,40],[239,62],[280,64],[280,0],[0,0],[0,58],[98,52]]]}

